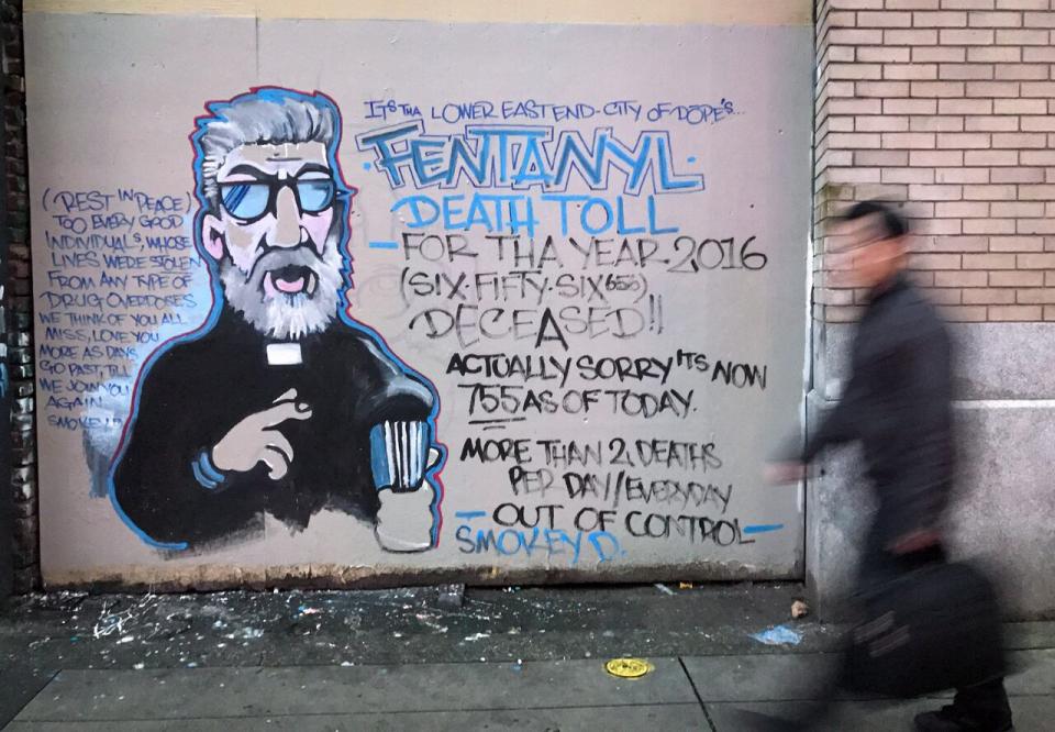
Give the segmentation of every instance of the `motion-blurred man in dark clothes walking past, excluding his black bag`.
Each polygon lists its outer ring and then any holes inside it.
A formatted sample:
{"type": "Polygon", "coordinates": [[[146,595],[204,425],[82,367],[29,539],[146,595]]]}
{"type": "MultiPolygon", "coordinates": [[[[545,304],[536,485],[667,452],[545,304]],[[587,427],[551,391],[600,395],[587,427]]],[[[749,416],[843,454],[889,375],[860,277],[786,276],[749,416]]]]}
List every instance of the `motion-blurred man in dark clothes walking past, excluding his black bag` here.
{"type": "MultiPolygon", "coordinates": [[[[942,519],[953,485],[952,347],[935,308],[908,280],[908,224],[877,201],[853,206],[837,225],[847,285],[868,304],[853,345],[843,398],[795,458],[770,466],[796,481],[824,447],[859,442],[878,510],[857,574],[858,592],[921,563],[942,561],[942,519]]],[[[957,690],[941,711],[915,718],[922,732],[1006,732],[1003,679],[957,690]]]]}

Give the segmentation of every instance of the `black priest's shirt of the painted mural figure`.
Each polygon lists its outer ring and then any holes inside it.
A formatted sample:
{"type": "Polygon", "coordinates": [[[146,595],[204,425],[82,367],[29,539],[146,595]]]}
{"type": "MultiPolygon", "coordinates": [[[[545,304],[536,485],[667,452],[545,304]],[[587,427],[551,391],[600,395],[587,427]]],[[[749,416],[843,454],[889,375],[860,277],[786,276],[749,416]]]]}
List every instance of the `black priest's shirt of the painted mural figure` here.
{"type": "Polygon", "coordinates": [[[300,341],[299,365],[268,365],[268,343],[225,307],[212,330],[176,345],[146,374],[113,483],[121,508],[151,539],[195,545],[259,531],[265,512],[296,529],[323,508],[377,515],[370,429],[427,420],[432,392],[376,339],[340,321],[300,341]],[[193,474],[202,451],[289,389],[312,415],[275,428],[293,447],[286,476],[273,480],[258,464],[203,487],[193,474]]]}

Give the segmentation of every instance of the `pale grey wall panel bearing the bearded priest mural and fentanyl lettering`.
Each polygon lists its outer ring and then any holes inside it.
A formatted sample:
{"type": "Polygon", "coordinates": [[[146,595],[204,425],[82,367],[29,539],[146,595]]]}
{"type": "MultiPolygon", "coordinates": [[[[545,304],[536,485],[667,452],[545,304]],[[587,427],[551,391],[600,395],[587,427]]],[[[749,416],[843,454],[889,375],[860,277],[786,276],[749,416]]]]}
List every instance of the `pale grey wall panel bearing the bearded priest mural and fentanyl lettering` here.
{"type": "Polygon", "coordinates": [[[808,3],[287,4],[27,7],[45,583],[800,577],[808,3]]]}

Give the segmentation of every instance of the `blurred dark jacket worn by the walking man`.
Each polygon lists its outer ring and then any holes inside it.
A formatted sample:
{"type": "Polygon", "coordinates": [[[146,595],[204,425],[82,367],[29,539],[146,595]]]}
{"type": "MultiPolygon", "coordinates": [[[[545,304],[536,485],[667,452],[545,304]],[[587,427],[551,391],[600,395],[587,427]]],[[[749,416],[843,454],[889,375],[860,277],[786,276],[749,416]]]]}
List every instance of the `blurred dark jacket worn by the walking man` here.
{"type": "Polygon", "coordinates": [[[873,293],[842,399],[802,453],[808,463],[825,445],[860,441],[879,504],[865,573],[898,537],[941,520],[953,486],[952,399],[948,332],[934,307],[898,276],[873,293]]]}

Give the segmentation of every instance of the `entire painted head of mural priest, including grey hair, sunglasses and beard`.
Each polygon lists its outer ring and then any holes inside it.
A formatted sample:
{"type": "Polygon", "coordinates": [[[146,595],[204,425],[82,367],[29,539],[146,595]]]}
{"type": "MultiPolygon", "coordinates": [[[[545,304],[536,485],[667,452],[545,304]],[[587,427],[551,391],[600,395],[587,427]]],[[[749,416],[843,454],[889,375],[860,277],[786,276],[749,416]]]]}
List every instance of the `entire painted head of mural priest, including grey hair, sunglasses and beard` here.
{"type": "Polygon", "coordinates": [[[262,89],[208,107],[192,136],[201,246],[224,297],[269,337],[325,329],[344,285],[349,189],[322,95],[262,89]]]}

